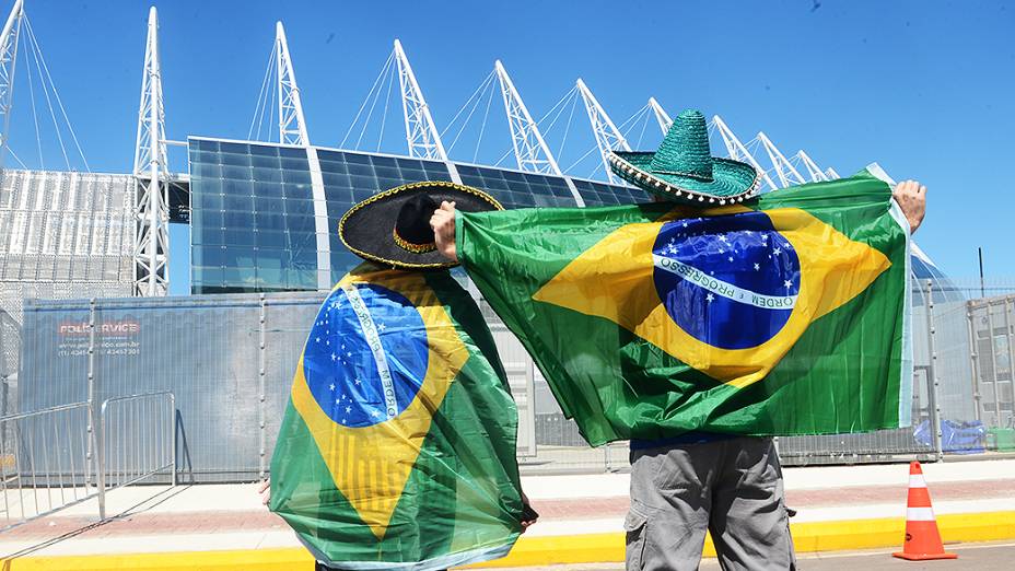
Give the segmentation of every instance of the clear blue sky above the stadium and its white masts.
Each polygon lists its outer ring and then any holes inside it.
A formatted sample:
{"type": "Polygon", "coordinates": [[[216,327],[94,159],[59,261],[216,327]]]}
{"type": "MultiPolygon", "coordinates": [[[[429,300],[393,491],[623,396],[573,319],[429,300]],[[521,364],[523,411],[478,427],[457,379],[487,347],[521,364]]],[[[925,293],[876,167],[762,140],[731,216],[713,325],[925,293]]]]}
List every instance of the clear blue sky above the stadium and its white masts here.
{"type": "MultiPolygon", "coordinates": [[[[0,2],[4,13],[11,3],[0,2]]],[[[93,171],[131,166],[149,5],[26,1],[93,171]]],[[[618,124],[654,95],[670,114],[685,107],[720,114],[745,142],[765,130],[786,154],[805,149],[841,174],[878,161],[896,178],[919,178],[930,188],[930,213],[918,238],[931,257],[953,276],[972,277],[976,249],[982,246],[988,275],[1013,275],[1015,209],[1006,166],[1015,152],[1015,7],[1003,2],[175,0],[158,5],[172,139],[247,137],[275,22],[281,19],[311,139],[337,147],[399,37],[442,129],[497,58],[537,118],[582,77],[618,124]]],[[[37,167],[24,73],[20,65],[11,147],[37,167]]],[[[52,129],[45,127],[48,112],[37,78],[35,89],[43,160],[61,167],[52,129]]],[[[364,137],[369,148],[377,145],[383,106],[384,97],[364,137]]],[[[475,153],[489,163],[509,149],[503,107],[494,98],[476,153],[483,110],[466,127],[453,159],[471,161],[475,153]]],[[[397,93],[386,117],[380,147],[404,153],[397,93]]],[[[555,151],[564,119],[547,133],[555,151]]],[[[568,132],[562,166],[592,144],[580,106],[568,132]]],[[[635,125],[629,138],[641,132],[635,125]]],[[[654,145],[657,127],[649,124],[644,132],[643,145],[654,145]]],[[[721,149],[713,143],[713,151],[721,149]]],[[[176,153],[174,167],[185,168],[185,158],[176,153]]],[[[82,165],[71,158],[71,166],[82,165]]],[[[587,176],[594,167],[594,159],[586,160],[571,174],[587,176]]],[[[180,237],[174,233],[174,240],[180,237]]],[[[177,284],[185,280],[184,268],[174,264],[171,278],[177,284]]]]}

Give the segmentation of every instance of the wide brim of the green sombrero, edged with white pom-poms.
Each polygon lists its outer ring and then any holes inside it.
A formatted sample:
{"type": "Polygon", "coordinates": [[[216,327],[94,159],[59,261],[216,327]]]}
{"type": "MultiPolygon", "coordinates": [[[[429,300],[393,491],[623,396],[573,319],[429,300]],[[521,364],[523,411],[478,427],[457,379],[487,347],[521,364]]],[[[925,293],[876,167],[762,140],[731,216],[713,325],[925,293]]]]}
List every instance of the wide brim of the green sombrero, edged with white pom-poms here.
{"type": "Polygon", "coordinates": [[[609,167],[632,185],[669,200],[701,205],[743,202],[758,191],[761,177],[754,166],[712,158],[712,180],[651,171],[653,152],[611,152],[609,167]]]}

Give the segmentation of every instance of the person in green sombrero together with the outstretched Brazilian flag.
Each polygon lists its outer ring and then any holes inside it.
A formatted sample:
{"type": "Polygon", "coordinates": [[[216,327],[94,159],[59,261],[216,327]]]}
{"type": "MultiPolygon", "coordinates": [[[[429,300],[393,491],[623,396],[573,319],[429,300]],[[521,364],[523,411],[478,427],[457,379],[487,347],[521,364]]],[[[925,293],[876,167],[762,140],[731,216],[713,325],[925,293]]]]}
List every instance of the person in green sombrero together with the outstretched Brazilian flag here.
{"type": "Polygon", "coordinates": [[[656,152],[610,162],[662,201],[444,203],[436,245],[583,436],[631,441],[628,569],[696,569],[707,529],[725,569],[793,569],[770,436],[910,423],[909,234],[926,189],[864,172],[757,197],[758,173],[713,158],[693,110],[656,152]]]}

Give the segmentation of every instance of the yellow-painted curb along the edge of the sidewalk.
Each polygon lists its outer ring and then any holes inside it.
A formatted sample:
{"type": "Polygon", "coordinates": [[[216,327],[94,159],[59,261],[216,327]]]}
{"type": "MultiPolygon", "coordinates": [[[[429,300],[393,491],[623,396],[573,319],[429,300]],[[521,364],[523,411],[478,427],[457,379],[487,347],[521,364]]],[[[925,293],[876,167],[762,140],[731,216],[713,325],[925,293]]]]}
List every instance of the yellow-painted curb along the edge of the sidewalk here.
{"type": "MultiPolygon", "coordinates": [[[[945,543],[1015,539],[1015,511],[946,514],[937,517],[945,543]]],[[[906,529],[902,517],[803,522],[792,525],[797,552],[899,547],[906,529]]],[[[622,533],[569,536],[523,536],[511,555],[470,568],[529,567],[623,561],[622,533]]],[[[711,540],[704,555],[714,556],[711,540]]],[[[248,549],[5,559],[0,571],[313,571],[303,549],[248,549]]]]}

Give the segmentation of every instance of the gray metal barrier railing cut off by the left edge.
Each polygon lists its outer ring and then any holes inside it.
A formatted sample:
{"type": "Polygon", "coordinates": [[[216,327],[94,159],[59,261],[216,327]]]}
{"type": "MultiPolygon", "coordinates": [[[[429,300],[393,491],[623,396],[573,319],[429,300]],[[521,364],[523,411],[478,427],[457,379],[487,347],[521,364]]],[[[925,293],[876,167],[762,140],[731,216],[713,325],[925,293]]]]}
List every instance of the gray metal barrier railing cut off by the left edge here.
{"type": "Polygon", "coordinates": [[[0,417],[0,531],[98,494],[91,483],[88,403],[0,417]]]}

